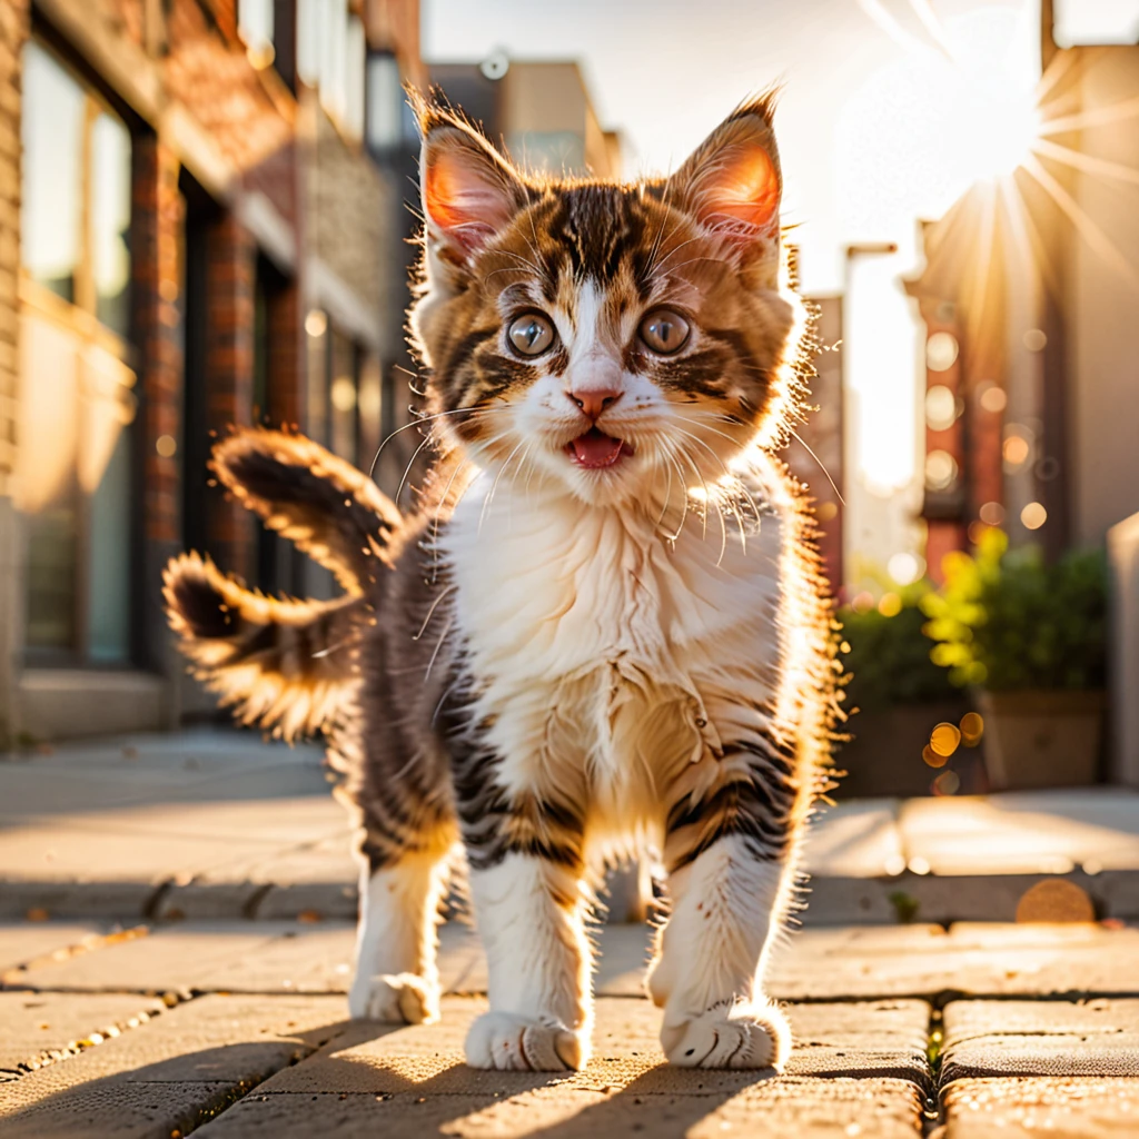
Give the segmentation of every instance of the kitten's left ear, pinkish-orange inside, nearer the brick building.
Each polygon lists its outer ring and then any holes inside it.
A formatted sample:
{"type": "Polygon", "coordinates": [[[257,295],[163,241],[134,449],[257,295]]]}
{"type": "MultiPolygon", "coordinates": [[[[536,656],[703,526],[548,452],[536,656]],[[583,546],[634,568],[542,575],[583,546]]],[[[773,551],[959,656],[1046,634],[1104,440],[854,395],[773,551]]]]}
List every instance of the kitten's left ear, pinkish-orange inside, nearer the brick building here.
{"type": "Polygon", "coordinates": [[[526,188],[461,118],[424,104],[419,123],[419,185],[428,236],[466,261],[525,205],[526,188]]]}

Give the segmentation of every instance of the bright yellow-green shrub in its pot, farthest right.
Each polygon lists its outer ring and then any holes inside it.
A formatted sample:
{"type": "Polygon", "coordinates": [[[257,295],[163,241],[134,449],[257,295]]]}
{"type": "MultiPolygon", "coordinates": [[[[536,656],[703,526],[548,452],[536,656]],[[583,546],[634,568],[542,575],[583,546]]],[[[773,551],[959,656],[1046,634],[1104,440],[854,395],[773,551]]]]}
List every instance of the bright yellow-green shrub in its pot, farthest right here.
{"type": "Polygon", "coordinates": [[[921,599],[934,663],[976,690],[993,788],[1096,781],[1104,720],[1106,565],[1099,551],[1048,564],[1008,549],[999,530],[973,556],[942,563],[943,587],[921,599]]]}

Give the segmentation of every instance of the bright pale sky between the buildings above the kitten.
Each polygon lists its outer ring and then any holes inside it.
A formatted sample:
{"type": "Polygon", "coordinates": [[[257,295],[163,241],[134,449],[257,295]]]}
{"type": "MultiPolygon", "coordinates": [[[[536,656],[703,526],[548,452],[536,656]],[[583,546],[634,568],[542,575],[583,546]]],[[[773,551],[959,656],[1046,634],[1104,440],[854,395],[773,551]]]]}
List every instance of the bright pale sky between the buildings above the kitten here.
{"type": "MultiPolygon", "coordinates": [[[[993,8],[1011,25],[1024,7],[921,2],[942,25],[993,8]]],[[[894,151],[928,149],[925,123],[904,105],[912,92],[884,80],[892,65],[939,58],[918,8],[911,0],[424,0],[423,50],[428,60],[477,60],[495,49],[577,59],[601,122],[623,134],[629,174],[675,167],[744,97],[782,84],[784,221],[802,230],[804,288],[833,293],[847,241],[898,239],[917,213],[943,212],[968,185],[967,172],[945,163],[916,177],[902,171],[898,181],[894,151]],[[883,163],[892,185],[882,185],[883,163]]]]}

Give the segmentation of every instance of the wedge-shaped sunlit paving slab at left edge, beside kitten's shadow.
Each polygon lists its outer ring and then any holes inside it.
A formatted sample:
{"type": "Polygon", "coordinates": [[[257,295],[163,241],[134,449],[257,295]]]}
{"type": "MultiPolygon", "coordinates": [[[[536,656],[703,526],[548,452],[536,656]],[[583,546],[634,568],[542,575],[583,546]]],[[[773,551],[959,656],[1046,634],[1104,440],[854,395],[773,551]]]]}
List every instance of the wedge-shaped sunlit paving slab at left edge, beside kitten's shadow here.
{"type": "Polygon", "coordinates": [[[0,992],[0,1082],[138,1027],[164,1008],[130,993],[0,992]]]}

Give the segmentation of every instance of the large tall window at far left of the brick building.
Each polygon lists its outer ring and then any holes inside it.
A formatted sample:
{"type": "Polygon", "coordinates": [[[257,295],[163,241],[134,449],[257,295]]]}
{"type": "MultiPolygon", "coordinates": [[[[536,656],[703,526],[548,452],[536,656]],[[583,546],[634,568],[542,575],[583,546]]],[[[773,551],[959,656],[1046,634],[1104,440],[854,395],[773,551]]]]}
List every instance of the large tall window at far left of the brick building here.
{"type": "Polygon", "coordinates": [[[136,375],[131,138],[44,47],[24,48],[21,449],[33,654],[131,652],[136,375]]]}

